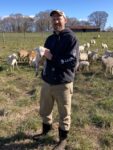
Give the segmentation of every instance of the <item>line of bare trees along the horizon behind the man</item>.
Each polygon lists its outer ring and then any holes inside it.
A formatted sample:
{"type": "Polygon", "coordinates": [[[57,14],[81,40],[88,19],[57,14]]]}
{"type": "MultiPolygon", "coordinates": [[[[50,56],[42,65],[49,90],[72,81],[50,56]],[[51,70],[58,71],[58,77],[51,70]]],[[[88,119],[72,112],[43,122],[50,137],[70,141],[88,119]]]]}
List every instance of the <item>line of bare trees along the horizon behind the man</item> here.
{"type": "MultiPolygon", "coordinates": [[[[0,32],[45,32],[51,31],[50,10],[41,11],[34,17],[25,16],[21,13],[10,14],[7,17],[0,17],[0,32]]],[[[108,18],[105,11],[95,11],[88,16],[87,21],[79,21],[76,17],[67,16],[67,26],[93,25],[104,30],[108,18]]],[[[112,27],[109,27],[112,29],[112,27]]]]}

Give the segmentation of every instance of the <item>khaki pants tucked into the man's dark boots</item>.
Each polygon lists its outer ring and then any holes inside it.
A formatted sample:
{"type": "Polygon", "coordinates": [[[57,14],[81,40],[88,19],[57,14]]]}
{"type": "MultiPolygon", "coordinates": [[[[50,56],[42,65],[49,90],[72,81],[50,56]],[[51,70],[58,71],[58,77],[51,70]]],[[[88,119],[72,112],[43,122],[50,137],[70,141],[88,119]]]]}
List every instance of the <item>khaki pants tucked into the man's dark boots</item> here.
{"type": "Polygon", "coordinates": [[[52,110],[56,101],[59,112],[59,127],[69,130],[71,124],[71,98],[73,82],[60,85],[43,83],[40,96],[40,115],[43,123],[52,124],[52,110]]]}

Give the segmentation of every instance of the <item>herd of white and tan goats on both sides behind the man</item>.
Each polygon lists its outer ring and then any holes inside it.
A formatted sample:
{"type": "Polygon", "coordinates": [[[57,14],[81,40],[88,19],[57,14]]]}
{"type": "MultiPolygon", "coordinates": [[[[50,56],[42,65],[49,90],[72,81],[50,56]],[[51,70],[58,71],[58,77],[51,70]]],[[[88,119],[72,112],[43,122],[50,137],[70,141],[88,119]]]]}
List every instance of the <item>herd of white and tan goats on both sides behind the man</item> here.
{"type": "MultiPolygon", "coordinates": [[[[99,35],[98,35],[98,38],[99,35]]],[[[113,51],[108,50],[108,46],[106,43],[102,43],[102,48],[104,49],[104,53],[102,56],[99,56],[98,49],[95,51],[89,50],[91,45],[94,45],[96,43],[95,39],[91,39],[90,42],[87,42],[83,45],[79,46],[79,52],[80,52],[80,59],[78,64],[78,71],[86,70],[89,71],[90,65],[92,62],[96,60],[101,60],[102,68],[104,68],[105,75],[107,73],[110,73],[113,75],[113,51]]],[[[27,51],[24,49],[21,49],[18,51],[18,53],[13,53],[7,57],[7,63],[10,66],[11,70],[14,70],[15,66],[18,69],[18,62],[21,60],[28,61],[28,64],[30,66],[35,66],[35,72],[36,75],[38,74],[38,68],[40,62],[42,62],[44,58],[44,51],[45,48],[43,46],[39,46],[38,48],[27,51]]]]}

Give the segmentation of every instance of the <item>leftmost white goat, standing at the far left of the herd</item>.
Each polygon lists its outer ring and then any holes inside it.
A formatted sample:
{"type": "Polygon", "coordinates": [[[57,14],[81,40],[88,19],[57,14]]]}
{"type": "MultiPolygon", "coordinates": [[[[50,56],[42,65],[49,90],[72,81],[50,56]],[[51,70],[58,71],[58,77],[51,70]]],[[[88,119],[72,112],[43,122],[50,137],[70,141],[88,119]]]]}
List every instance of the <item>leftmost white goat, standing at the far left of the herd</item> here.
{"type": "Polygon", "coordinates": [[[17,54],[13,53],[7,57],[7,63],[10,65],[11,72],[14,70],[15,66],[18,69],[18,63],[17,63],[17,54]]]}

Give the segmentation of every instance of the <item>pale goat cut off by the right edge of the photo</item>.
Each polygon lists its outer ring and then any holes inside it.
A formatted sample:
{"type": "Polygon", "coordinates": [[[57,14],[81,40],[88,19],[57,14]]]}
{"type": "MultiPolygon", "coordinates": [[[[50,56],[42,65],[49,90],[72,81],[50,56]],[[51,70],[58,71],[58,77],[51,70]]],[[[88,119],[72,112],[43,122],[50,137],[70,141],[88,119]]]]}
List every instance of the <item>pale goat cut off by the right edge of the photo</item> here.
{"type": "Polygon", "coordinates": [[[113,57],[102,56],[102,65],[105,68],[105,75],[109,72],[113,75],[113,57]]]}

